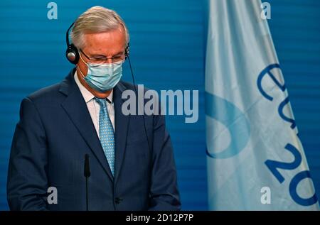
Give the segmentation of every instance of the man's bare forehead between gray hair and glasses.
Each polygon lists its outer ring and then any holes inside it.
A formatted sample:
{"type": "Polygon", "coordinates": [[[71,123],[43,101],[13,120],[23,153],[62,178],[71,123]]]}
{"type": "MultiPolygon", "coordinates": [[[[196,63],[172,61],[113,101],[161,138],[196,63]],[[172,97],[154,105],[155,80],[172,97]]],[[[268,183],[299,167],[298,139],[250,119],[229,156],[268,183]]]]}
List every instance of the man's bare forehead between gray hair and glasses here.
{"type": "Polygon", "coordinates": [[[126,37],[122,29],[102,33],[85,33],[85,50],[90,55],[114,55],[124,51],[126,37]]]}

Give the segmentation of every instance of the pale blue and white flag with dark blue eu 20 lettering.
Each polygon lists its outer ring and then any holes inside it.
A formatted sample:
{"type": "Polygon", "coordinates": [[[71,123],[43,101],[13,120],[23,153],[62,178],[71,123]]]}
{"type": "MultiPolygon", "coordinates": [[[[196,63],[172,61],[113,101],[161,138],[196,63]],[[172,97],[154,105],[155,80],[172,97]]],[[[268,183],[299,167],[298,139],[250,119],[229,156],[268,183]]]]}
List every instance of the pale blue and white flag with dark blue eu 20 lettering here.
{"type": "Polygon", "coordinates": [[[209,209],[317,210],[318,199],[261,4],[260,0],[209,1],[209,209]]]}

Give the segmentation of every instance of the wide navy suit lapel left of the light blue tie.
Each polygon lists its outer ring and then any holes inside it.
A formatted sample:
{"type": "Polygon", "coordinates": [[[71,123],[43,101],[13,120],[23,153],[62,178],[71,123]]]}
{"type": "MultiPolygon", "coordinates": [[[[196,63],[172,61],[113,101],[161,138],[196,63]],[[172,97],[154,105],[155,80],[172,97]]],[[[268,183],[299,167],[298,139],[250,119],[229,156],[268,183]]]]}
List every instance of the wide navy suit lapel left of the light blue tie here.
{"type": "Polygon", "coordinates": [[[80,135],[90,147],[92,153],[102,165],[102,168],[105,170],[107,175],[109,175],[110,179],[113,180],[110,167],[107,163],[107,158],[105,157],[105,153],[103,152],[100,140],[97,136],[97,132],[95,131],[95,126],[92,123],[90,113],[87,109],[87,104],[85,103],[80,89],[78,88],[78,85],[75,83],[75,80],[73,78],[74,73],[75,70],[70,72],[68,77],[60,86],[60,92],[67,95],[65,101],[63,101],[61,106],[63,107],[63,109],[65,109],[65,112],[68,114],[70,120],[73,121],[73,124],[75,124],[75,126],[78,128],[80,135]]]}

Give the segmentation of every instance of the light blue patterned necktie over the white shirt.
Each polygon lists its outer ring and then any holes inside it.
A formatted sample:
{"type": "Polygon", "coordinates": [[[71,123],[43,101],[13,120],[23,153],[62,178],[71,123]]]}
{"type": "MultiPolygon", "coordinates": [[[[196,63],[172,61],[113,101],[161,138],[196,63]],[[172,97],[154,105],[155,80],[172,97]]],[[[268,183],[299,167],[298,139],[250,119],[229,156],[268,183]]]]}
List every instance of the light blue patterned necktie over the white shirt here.
{"type": "Polygon", "coordinates": [[[99,136],[100,143],[107,157],[110,170],[114,175],[114,131],[110,117],[107,111],[107,101],[105,99],[95,98],[100,104],[99,112],[99,136]]]}

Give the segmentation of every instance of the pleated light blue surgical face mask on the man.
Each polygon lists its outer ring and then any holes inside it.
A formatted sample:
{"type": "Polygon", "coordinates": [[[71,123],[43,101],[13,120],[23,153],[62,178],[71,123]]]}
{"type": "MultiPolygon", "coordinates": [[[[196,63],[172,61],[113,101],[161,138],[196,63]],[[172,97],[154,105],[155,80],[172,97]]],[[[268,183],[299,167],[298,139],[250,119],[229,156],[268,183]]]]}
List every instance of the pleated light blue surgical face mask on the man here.
{"type": "MultiPolygon", "coordinates": [[[[82,60],[82,57],[80,55],[82,60]]],[[[114,88],[122,77],[122,62],[95,64],[85,62],[87,65],[87,75],[84,76],[80,70],[85,82],[98,92],[106,92],[114,88]]]]}

